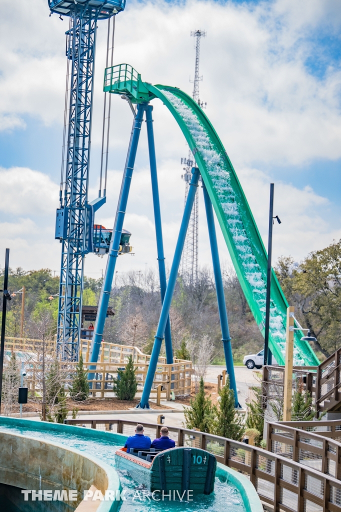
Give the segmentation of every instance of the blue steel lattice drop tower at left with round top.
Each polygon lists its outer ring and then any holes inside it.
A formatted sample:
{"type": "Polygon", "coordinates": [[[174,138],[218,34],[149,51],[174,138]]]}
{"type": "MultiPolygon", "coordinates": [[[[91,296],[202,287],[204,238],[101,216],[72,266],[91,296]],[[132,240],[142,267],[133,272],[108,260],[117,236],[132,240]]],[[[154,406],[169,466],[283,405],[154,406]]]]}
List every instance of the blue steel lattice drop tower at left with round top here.
{"type": "Polygon", "coordinates": [[[100,19],[110,20],[122,11],[125,0],[48,1],[51,14],[57,13],[61,19],[61,16],[70,18],[66,32],[66,56],[69,60],[55,238],[62,244],[57,350],[62,360],[76,361],[84,256],[94,251],[94,213],[105,202],[105,196],[100,197],[100,194],[95,201],[88,202],[97,22],[100,19]]]}

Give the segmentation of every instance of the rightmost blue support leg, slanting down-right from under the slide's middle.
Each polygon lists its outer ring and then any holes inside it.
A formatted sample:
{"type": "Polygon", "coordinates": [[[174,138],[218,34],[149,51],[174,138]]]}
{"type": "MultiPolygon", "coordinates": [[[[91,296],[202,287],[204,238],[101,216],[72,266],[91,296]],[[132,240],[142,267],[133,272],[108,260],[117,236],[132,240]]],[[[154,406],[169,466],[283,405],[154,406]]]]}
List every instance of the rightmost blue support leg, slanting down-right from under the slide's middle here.
{"type": "Polygon", "coordinates": [[[228,319],[227,319],[227,311],[226,311],[226,304],[225,304],[223,279],[222,279],[222,275],[221,275],[221,268],[220,268],[220,261],[219,261],[215,219],[213,216],[212,203],[211,203],[211,200],[209,199],[209,195],[208,195],[208,192],[207,192],[207,189],[206,189],[204,183],[203,183],[203,191],[204,191],[204,201],[205,201],[205,209],[206,209],[206,217],[207,217],[207,225],[208,225],[208,233],[209,233],[209,242],[211,245],[213,271],[215,274],[215,281],[216,281],[219,318],[220,318],[220,325],[221,325],[222,342],[223,342],[224,353],[225,353],[226,369],[227,369],[227,373],[228,373],[229,380],[230,380],[230,389],[232,389],[233,393],[235,394],[236,407],[240,407],[239,403],[238,403],[235,369],[233,368],[231,337],[230,337],[230,332],[228,329],[228,319]]]}

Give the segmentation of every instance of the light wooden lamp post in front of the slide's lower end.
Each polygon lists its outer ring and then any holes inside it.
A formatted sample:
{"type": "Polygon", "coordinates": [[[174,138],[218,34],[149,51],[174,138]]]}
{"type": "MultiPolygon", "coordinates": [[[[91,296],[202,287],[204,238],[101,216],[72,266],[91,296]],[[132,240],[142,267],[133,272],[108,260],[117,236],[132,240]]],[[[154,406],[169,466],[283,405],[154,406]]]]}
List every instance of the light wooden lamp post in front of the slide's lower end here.
{"type": "Polygon", "coordinates": [[[290,330],[290,327],[292,327],[292,328],[294,327],[294,317],[293,317],[294,311],[295,311],[295,308],[293,306],[289,306],[287,308],[287,339],[286,339],[286,344],[285,344],[283,421],[291,421],[294,331],[290,330]]]}

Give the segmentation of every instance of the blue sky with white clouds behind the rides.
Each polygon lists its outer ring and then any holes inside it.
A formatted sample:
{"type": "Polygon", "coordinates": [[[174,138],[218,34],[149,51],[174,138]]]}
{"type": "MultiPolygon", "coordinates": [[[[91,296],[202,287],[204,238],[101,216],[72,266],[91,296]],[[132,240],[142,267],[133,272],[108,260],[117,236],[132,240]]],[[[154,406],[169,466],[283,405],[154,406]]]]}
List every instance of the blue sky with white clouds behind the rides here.
{"type": "MultiPolygon", "coordinates": [[[[59,273],[54,240],[65,95],[68,18],[49,17],[47,0],[0,0],[0,265],[59,273]]],[[[116,19],[114,62],[130,63],[152,83],[191,93],[201,40],[200,97],[236,168],[267,244],[270,182],[275,183],[274,258],[309,251],[341,237],[341,4],[335,0],[264,2],[137,2],[116,19]]],[[[98,23],[90,193],[97,196],[106,22],[98,23]]],[[[180,159],[186,145],[171,114],[154,100],[154,130],[166,261],[172,261],[184,201],[180,159]]],[[[129,142],[132,113],[112,99],[108,203],[96,221],[112,227],[129,142]]],[[[199,261],[210,265],[200,198],[199,261]]],[[[124,227],[135,256],[117,270],[156,266],[151,183],[142,131],[124,227]]],[[[221,258],[228,253],[220,237],[221,258]]],[[[103,259],[88,255],[86,274],[98,278],[103,259]]]]}

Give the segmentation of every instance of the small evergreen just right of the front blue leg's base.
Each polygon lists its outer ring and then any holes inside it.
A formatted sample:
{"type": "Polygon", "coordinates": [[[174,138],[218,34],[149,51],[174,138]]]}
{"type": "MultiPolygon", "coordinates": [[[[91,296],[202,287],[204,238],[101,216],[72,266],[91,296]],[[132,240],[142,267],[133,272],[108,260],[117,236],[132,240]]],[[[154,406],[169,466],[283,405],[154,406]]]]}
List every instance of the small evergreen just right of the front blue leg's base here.
{"type": "Polygon", "coordinates": [[[190,407],[184,407],[185,425],[187,429],[199,429],[209,433],[212,425],[212,402],[205,397],[204,379],[201,377],[199,391],[195,398],[190,399],[190,407]]]}

